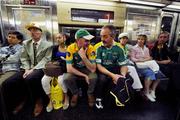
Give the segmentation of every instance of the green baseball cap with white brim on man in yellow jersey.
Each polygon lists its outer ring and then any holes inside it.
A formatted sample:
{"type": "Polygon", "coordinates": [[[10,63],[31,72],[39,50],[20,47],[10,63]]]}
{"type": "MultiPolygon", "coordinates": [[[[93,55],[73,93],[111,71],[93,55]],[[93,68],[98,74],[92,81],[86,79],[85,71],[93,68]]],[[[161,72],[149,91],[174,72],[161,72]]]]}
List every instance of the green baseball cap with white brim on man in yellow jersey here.
{"type": "Polygon", "coordinates": [[[84,38],[86,40],[91,40],[94,38],[93,35],[91,35],[87,30],[85,29],[79,29],[75,34],[75,39],[84,38]]]}

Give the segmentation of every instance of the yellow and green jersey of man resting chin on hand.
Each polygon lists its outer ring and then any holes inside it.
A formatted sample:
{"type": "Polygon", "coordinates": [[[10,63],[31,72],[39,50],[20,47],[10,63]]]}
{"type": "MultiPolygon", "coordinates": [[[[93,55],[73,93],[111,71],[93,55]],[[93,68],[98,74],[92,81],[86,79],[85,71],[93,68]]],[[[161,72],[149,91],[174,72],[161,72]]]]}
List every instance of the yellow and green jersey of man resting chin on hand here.
{"type": "MultiPolygon", "coordinates": [[[[83,68],[85,67],[84,62],[78,54],[79,48],[76,43],[71,44],[67,48],[66,63],[73,64],[74,67],[83,68]]],[[[92,45],[89,45],[86,51],[87,58],[91,63],[95,63],[95,51],[92,45]]]]}

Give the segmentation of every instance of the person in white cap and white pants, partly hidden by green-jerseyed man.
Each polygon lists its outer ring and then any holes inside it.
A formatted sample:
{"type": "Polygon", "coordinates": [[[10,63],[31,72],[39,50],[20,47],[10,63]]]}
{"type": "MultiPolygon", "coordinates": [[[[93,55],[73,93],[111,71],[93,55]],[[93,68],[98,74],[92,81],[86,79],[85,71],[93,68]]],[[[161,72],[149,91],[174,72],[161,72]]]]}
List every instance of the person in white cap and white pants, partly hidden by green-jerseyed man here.
{"type": "Polygon", "coordinates": [[[128,57],[129,57],[129,48],[127,45],[128,36],[129,36],[128,33],[121,33],[118,36],[118,39],[120,42],[120,47],[122,48],[124,56],[127,60],[128,72],[134,80],[132,87],[136,90],[140,90],[142,88],[142,84],[141,84],[141,81],[139,79],[138,73],[136,71],[136,68],[134,67],[134,63],[128,59],[128,57]]]}

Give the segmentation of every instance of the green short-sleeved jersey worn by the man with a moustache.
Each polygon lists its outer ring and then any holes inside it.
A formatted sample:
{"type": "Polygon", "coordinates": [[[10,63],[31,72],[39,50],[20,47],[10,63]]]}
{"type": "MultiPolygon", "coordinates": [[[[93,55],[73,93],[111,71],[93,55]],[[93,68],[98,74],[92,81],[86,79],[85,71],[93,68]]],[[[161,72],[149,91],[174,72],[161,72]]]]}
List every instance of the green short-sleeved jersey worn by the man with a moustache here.
{"type": "Polygon", "coordinates": [[[96,52],[96,63],[106,69],[126,65],[123,50],[118,45],[113,45],[111,48],[100,46],[96,52]]]}

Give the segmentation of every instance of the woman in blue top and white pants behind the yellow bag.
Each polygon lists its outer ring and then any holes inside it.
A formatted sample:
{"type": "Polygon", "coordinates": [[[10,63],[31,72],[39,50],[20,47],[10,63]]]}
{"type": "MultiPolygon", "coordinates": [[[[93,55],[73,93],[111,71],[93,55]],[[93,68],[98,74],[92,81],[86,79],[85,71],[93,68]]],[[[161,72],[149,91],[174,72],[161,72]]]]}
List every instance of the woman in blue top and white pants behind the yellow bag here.
{"type": "MultiPolygon", "coordinates": [[[[57,61],[59,65],[62,66],[63,72],[66,72],[66,40],[67,36],[66,34],[59,33],[56,35],[56,42],[58,43],[57,46],[53,47],[53,52],[52,52],[52,61],[57,61]]],[[[52,80],[53,77],[44,75],[42,78],[42,86],[45,91],[45,93],[48,95],[50,98],[50,81],[52,80]]],[[[64,104],[63,104],[63,109],[67,109],[69,107],[69,96],[67,95],[67,88],[64,84],[63,81],[63,75],[58,76],[58,84],[61,85],[63,92],[64,92],[64,104]]],[[[46,107],[47,112],[50,112],[53,109],[51,99],[49,101],[48,106],[46,107]]]]}

